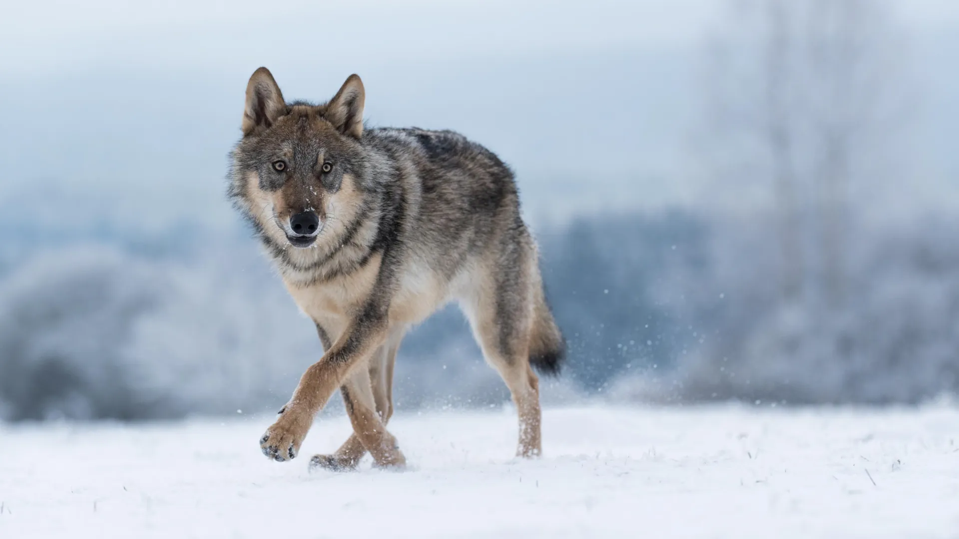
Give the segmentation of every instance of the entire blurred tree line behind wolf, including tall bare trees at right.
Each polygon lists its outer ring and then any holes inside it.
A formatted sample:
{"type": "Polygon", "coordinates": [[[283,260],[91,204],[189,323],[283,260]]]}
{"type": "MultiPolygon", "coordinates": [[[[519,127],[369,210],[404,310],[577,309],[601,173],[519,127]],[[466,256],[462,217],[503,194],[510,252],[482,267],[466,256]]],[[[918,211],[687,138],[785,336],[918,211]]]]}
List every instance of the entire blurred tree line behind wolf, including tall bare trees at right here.
{"type": "MultiPolygon", "coordinates": [[[[959,218],[909,190],[895,13],[873,0],[730,6],[704,54],[690,152],[701,199],[538,230],[569,344],[565,394],[954,394],[959,218]]],[[[70,233],[69,249],[34,227],[0,248],[0,419],[275,410],[320,357],[246,232],[70,233]]],[[[455,309],[412,331],[399,362],[401,409],[507,399],[455,309]]]]}

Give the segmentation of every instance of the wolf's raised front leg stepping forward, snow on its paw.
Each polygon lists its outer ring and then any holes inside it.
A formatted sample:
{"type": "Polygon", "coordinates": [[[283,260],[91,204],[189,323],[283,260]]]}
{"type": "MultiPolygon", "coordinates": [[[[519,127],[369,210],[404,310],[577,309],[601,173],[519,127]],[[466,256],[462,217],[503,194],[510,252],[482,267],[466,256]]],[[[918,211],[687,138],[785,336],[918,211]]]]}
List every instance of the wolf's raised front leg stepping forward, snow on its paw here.
{"type": "Polygon", "coordinates": [[[369,354],[385,340],[385,317],[363,316],[354,320],[323,358],[303,373],[290,402],[260,438],[263,454],[280,462],[295,458],[316,412],[349,377],[353,367],[364,365],[369,354]]]}

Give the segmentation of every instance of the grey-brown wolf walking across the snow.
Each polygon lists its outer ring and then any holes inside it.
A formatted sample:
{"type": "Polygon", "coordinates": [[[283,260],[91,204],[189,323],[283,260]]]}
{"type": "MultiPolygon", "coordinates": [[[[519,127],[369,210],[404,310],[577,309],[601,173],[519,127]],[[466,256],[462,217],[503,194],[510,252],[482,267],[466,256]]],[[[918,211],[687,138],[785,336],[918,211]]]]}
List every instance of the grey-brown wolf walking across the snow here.
{"type": "Polygon", "coordinates": [[[456,301],[519,415],[517,455],[538,457],[540,373],[556,374],[566,342],[550,313],[513,174],[450,130],[368,129],[357,75],[322,105],[287,103],[269,70],[246,85],[228,197],[252,224],[324,353],[260,439],[296,457],[339,387],[353,426],[311,468],[379,467],[406,457],[386,431],[397,349],[411,326],[456,301]]]}

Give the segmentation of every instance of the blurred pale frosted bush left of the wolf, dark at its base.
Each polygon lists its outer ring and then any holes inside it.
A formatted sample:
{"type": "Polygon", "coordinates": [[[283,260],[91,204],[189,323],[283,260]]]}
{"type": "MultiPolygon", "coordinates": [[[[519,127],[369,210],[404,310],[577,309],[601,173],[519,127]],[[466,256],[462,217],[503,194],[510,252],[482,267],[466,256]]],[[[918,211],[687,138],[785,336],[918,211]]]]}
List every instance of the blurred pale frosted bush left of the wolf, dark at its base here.
{"type": "Polygon", "coordinates": [[[104,247],[22,265],[0,288],[2,417],[162,418],[283,402],[321,348],[273,280],[257,290],[235,268],[104,247]]]}

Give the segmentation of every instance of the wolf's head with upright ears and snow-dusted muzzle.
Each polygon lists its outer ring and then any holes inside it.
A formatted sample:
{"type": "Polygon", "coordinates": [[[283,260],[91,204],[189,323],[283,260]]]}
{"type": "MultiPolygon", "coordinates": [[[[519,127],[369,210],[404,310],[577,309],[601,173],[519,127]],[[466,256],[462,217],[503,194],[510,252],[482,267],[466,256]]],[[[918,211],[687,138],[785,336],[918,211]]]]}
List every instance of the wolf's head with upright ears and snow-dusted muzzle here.
{"type": "Polygon", "coordinates": [[[250,77],[229,195],[265,241],[312,247],[358,211],[363,100],[356,75],[325,105],[287,104],[266,67],[250,77]]]}

